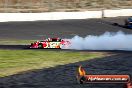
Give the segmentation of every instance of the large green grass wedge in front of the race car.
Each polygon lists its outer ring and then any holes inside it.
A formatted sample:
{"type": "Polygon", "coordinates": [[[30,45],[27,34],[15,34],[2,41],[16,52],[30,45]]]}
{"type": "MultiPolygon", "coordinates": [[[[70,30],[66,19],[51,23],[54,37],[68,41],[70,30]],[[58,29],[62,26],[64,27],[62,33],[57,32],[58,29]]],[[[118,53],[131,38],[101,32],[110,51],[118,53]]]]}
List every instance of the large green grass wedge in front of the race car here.
{"type": "Polygon", "coordinates": [[[0,50],[0,77],[97,57],[103,57],[103,54],[72,51],[0,50]]]}

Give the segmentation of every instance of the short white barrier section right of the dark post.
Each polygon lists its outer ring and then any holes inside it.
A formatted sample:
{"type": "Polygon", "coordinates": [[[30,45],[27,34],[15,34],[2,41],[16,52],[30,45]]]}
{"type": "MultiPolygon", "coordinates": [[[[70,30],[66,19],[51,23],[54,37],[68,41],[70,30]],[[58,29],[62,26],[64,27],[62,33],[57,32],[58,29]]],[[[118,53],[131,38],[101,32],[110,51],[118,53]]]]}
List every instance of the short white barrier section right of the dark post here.
{"type": "Polygon", "coordinates": [[[104,10],[104,17],[132,16],[132,9],[104,10]]]}

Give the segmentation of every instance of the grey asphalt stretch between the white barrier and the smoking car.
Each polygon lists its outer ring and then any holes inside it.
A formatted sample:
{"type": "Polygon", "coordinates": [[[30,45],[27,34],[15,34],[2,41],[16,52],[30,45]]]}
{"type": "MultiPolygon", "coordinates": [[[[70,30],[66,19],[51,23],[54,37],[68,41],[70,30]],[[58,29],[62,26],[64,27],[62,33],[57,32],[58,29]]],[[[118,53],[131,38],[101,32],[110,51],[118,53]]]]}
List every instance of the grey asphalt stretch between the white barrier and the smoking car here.
{"type": "Polygon", "coordinates": [[[0,23],[0,39],[37,40],[48,37],[72,38],[75,35],[101,35],[105,32],[123,31],[132,33],[124,28],[125,18],[104,18],[86,20],[36,21],[0,23]],[[113,23],[119,23],[114,26],[113,23]]]}

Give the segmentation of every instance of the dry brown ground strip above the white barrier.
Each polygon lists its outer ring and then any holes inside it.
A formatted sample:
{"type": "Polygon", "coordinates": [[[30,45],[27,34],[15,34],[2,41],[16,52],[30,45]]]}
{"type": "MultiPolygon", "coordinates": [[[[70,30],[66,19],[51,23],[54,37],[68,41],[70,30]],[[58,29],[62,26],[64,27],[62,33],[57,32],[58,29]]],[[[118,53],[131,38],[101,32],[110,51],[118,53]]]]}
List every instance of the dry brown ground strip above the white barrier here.
{"type": "Polygon", "coordinates": [[[104,8],[131,8],[131,3],[131,0],[0,0],[0,12],[86,11],[104,8]]]}

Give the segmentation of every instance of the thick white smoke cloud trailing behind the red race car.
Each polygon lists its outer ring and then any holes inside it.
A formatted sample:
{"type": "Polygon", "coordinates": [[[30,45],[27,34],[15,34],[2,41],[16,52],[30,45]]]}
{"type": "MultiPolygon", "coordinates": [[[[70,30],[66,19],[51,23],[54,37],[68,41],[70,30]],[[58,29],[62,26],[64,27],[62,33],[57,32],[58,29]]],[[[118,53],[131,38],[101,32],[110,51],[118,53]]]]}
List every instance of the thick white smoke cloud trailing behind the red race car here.
{"type": "Polygon", "coordinates": [[[75,36],[66,49],[76,50],[132,50],[132,34],[106,32],[100,36],[75,36]]]}

